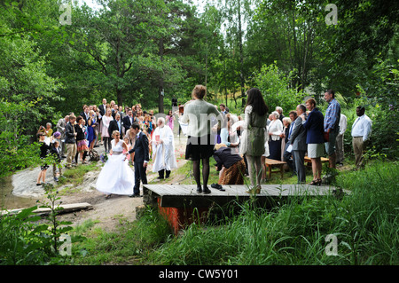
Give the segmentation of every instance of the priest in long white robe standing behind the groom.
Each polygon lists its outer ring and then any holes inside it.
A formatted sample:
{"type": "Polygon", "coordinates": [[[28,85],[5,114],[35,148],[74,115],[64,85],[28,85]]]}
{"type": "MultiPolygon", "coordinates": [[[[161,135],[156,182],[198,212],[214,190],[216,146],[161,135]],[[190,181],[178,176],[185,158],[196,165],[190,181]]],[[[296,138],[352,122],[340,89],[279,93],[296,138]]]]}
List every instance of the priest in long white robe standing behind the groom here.
{"type": "Polygon", "coordinates": [[[177,168],[175,156],[175,140],[173,131],[165,125],[165,119],[158,118],[157,128],[153,132],[153,172],[158,172],[158,178],[170,176],[171,169],[177,168]],[[166,176],[165,176],[166,171],[166,176]]]}

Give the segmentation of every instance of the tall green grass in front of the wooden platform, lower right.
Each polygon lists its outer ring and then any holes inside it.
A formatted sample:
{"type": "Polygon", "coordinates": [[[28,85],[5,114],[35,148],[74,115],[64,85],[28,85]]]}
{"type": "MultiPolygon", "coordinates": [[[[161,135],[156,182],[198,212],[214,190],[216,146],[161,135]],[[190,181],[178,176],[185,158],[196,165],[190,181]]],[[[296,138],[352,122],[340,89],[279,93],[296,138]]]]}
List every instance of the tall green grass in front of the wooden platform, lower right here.
{"type": "Polygon", "coordinates": [[[221,226],[192,224],[149,256],[153,264],[398,264],[398,169],[378,162],[337,177],[339,200],[301,197],[271,211],[247,202],[221,226]],[[328,255],[327,235],[338,240],[328,255]]]}

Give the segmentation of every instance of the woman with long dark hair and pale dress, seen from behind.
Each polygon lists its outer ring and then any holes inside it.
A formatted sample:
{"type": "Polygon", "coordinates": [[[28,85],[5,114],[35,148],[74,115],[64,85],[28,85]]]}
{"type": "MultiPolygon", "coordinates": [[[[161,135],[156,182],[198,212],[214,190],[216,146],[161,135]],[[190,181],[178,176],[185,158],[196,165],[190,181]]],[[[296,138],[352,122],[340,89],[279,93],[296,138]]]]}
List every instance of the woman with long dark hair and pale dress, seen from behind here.
{"type": "Polygon", "coordinates": [[[262,179],[261,157],[265,151],[264,140],[267,131],[269,107],[266,106],[261,90],[248,90],[245,119],[241,135],[240,154],[246,154],[251,189],[246,193],[260,193],[262,179]],[[255,175],[255,176],[254,176],[255,175]],[[254,180],[256,179],[256,185],[254,180]]]}

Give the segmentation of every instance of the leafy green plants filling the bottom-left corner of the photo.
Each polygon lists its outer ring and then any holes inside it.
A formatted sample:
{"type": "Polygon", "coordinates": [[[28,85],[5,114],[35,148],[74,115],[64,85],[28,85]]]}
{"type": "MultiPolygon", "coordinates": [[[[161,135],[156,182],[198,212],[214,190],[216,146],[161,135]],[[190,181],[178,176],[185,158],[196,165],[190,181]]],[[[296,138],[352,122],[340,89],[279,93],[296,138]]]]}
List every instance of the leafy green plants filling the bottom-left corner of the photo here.
{"type": "Polygon", "coordinates": [[[71,223],[57,219],[60,208],[55,206],[55,201],[59,198],[52,185],[47,185],[45,192],[51,202],[43,203],[42,208],[51,208],[49,224],[43,224],[42,217],[35,214],[37,206],[23,209],[18,214],[0,215],[0,265],[41,265],[62,261],[60,237],[72,229],[66,226],[71,223]]]}

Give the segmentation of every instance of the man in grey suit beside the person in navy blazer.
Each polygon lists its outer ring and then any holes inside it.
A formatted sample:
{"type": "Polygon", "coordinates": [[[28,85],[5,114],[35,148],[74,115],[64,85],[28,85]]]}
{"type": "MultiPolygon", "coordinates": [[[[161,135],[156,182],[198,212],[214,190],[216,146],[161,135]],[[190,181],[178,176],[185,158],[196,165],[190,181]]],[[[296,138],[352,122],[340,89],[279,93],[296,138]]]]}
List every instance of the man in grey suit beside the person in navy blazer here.
{"type": "Polygon", "coordinates": [[[295,169],[298,176],[298,184],[306,182],[306,168],[305,168],[305,153],[306,145],[306,130],[302,126],[301,115],[306,114],[306,106],[300,104],[296,106],[296,113],[298,118],[295,120],[293,132],[291,133],[291,144],[293,145],[293,157],[295,160],[295,169]]]}

